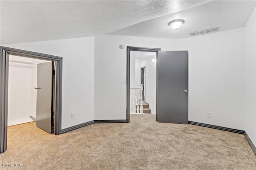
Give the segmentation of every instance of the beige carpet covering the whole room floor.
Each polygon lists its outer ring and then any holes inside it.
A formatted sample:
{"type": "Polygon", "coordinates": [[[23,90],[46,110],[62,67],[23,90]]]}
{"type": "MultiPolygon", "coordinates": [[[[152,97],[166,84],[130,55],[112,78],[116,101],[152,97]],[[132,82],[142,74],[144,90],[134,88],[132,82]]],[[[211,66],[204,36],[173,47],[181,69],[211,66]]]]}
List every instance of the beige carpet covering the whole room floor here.
{"type": "Polygon", "coordinates": [[[8,127],[8,149],[0,154],[0,167],[22,163],[22,168],[13,169],[256,170],[256,156],[244,135],[157,123],[151,114],[130,119],[57,136],[34,122],[8,127]]]}

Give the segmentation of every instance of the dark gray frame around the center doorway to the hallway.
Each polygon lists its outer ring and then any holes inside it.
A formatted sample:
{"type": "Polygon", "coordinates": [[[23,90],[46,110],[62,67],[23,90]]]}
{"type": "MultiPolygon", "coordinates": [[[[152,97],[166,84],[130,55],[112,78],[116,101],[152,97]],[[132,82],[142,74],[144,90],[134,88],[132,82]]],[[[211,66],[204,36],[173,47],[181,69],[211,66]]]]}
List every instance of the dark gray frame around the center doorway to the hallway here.
{"type": "MultiPolygon", "coordinates": [[[[130,122],[130,52],[131,51],[156,52],[156,62],[157,62],[158,51],[161,51],[161,49],[160,48],[127,46],[127,53],[126,53],[127,54],[127,59],[126,59],[126,122],[127,123],[130,122]]],[[[157,72],[157,64],[156,64],[156,72],[157,72]]],[[[157,81],[157,78],[156,78],[156,81],[157,81]]],[[[157,105],[156,105],[156,120],[157,120],[157,105]]]]}

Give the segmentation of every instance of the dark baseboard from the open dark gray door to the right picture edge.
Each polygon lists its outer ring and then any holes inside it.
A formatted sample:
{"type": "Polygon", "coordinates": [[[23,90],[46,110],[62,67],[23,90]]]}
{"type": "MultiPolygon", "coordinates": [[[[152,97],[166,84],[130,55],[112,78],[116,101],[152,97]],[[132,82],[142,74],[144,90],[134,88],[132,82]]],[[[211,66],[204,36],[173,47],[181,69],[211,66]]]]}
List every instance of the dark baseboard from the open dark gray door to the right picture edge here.
{"type": "Polygon", "coordinates": [[[205,123],[198,123],[198,122],[194,122],[194,121],[188,121],[188,124],[198,125],[198,126],[203,126],[203,127],[210,127],[210,128],[219,129],[219,130],[222,130],[222,131],[228,131],[228,132],[243,134],[246,137],[249,145],[252,147],[252,150],[253,150],[254,154],[256,155],[256,147],[252,143],[252,141],[251,141],[250,137],[247,135],[246,131],[242,131],[242,130],[238,130],[238,129],[231,129],[231,128],[228,128],[228,127],[216,126],[216,125],[209,125],[209,124],[205,124],[205,123]]]}

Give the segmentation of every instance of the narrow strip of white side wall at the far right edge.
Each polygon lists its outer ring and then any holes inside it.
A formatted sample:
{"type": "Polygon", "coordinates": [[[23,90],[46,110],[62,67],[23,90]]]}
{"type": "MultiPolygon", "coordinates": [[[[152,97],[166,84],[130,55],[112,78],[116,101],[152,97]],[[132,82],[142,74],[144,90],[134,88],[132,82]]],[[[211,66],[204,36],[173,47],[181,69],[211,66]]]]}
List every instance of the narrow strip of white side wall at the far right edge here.
{"type": "Polygon", "coordinates": [[[245,127],[256,145],[256,12],[255,8],[245,27],[245,127]]]}

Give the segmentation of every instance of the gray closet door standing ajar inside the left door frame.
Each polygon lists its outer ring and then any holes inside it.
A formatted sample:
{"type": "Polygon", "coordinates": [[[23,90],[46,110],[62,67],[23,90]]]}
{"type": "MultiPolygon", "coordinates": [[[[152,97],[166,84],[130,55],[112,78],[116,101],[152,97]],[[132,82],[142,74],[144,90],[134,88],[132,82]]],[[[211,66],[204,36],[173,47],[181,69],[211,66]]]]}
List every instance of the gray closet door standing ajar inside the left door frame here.
{"type": "Polygon", "coordinates": [[[52,133],[53,62],[37,65],[36,126],[52,133]]]}

